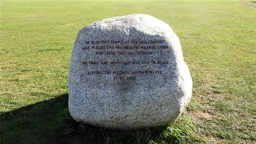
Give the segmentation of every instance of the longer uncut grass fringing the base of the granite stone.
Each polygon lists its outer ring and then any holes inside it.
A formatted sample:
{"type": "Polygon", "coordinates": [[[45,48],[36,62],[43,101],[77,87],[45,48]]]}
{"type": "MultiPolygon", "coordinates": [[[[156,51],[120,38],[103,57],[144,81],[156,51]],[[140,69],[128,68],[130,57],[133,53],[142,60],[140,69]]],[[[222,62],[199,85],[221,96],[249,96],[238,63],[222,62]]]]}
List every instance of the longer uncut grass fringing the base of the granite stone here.
{"type": "Polygon", "coordinates": [[[195,134],[196,127],[192,120],[193,116],[188,110],[185,111],[175,124],[170,124],[169,126],[135,130],[114,130],[79,123],[70,116],[68,109],[65,108],[57,114],[55,121],[48,128],[62,135],[67,143],[185,144],[202,141],[195,134]]]}

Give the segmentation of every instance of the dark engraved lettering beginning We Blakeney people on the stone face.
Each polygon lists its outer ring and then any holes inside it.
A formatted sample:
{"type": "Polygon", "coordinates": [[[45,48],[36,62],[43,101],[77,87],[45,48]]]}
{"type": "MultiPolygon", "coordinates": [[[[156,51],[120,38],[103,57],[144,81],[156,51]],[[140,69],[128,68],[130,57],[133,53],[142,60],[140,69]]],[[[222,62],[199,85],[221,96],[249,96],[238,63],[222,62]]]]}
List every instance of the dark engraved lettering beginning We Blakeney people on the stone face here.
{"type": "MultiPolygon", "coordinates": [[[[150,40],[150,41],[124,41],[124,40],[95,40],[95,41],[85,41],[84,46],[81,47],[83,52],[91,53],[97,57],[108,57],[112,56],[130,56],[130,57],[139,57],[139,55],[154,55],[157,49],[169,49],[169,45],[166,44],[165,40],[150,40]]],[[[169,51],[166,51],[169,54],[169,51]]],[[[143,75],[161,75],[164,74],[162,70],[145,70],[144,67],[151,67],[156,65],[167,65],[170,64],[169,61],[145,61],[145,60],[136,60],[136,61],[118,61],[112,59],[109,61],[82,61],[83,65],[87,66],[98,66],[105,65],[108,70],[102,71],[87,71],[87,75],[113,75],[113,80],[136,80],[138,76],[143,75]],[[113,66],[140,66],[141,70],[113,70],[113,66]],[[119,76],[115,76],[118,74],[119,76]],[[120,76],[124,75],[124,76],[120,76]]],[[[97,69],[95,67],[95,69],[97,69]]]]}

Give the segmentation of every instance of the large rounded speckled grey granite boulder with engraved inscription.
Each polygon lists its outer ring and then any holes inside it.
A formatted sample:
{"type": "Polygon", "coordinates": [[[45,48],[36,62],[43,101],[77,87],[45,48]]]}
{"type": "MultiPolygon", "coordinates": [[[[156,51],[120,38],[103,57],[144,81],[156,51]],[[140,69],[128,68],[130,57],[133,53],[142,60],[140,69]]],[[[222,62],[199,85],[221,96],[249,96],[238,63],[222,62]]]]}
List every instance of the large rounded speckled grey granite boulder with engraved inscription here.
{"type": "Polygon", "coordinates": [[[192,93],[179,38],[166,23],[144,14],[103,19],[81,29],[68,86],[75,120],[112,129],[173,123],[192,93]]]}

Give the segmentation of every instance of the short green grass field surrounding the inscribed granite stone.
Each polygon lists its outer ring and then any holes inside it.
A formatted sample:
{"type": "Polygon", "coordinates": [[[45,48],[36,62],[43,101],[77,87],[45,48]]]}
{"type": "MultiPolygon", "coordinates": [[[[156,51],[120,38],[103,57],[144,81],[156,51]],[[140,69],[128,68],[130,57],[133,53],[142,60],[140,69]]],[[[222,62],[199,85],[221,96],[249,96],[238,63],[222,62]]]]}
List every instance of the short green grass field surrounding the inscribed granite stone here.
{"type": "Polygon", "coordinates": [[[241,0],[1,0],[0,18],[1,144],[256,143],[256,9],[241,0]],[[75,122],[67,76],[77,32],[134,13],[164,21],[180,38],[192,102],[168,127],[75,122]]]}

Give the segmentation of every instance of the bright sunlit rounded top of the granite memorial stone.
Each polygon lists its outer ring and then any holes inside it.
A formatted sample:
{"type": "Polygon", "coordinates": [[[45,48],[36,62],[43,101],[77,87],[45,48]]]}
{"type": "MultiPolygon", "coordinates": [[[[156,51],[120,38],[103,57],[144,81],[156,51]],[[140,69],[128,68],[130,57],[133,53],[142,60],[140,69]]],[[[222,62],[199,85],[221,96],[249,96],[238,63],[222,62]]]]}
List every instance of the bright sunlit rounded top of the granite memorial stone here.
{"type": "Polygon", "coordinates": [[[173,33],[170,26],[165,22],[146,14],[131,14],[106,18],[96,21],[86,27],[101,30],[120,30],[125,31],[126,34],[139,31],[149,35],[166,36],[173,33]]]}

